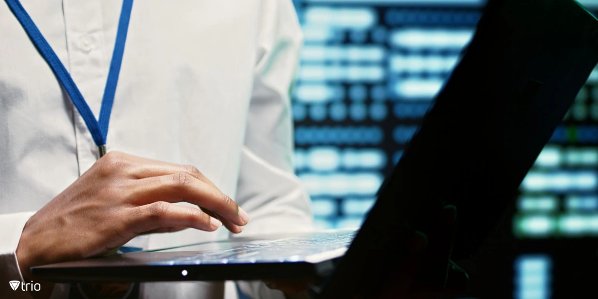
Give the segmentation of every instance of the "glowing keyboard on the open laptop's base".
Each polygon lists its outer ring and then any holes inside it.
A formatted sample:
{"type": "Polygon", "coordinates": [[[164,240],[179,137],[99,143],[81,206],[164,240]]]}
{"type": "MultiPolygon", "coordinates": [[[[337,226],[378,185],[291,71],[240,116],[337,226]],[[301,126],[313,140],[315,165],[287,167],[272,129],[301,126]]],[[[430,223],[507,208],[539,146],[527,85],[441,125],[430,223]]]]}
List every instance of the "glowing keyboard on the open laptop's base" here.
{"type": "Polygon", "coordinates": [[[229,249],[202,251],[194,255],[158,263],[168,265],[197,265],[317,262],[319,258],[326,260],[327,254],[342,255],[349,248],[356,233],[356,230],[314,233],[300,238],[279,239],[264,243],[249,243],[229,249]]]}

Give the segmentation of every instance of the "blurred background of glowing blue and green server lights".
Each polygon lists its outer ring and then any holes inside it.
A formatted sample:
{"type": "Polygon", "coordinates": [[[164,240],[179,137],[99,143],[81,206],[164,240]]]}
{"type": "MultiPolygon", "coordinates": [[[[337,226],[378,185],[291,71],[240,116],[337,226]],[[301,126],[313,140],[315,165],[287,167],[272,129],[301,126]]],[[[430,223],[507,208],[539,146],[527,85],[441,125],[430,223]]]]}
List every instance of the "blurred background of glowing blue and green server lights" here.
{"type": "MultiPolygon", "coordinates": [[[[579,2],[598,12],[598,0],[579,2]]],[[[305,39],[292,91],[295,170],[319,228],[356,227],[486,1],[294,4],[305,39]]],[[[597,166],[598,67],[480,257],[460,263],[471,298],[598,298],[597,166]]]]}

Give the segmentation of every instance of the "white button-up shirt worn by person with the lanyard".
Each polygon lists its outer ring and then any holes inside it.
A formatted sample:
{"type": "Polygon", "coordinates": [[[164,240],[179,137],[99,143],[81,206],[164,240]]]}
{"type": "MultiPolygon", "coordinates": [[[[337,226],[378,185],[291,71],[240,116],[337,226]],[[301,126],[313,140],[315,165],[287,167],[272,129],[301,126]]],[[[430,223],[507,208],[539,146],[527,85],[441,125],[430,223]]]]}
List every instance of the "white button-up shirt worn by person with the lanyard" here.
{"type": "MultiPolygon", "coordinates": [[[[121,0],[21,0],[94,114],[121,0]]],[[[0,1],[0,283],[23,280],[15,250],[29,217],[97,160],[83,118],[0,1]]],[[[122,151],[192,164],[252,218],[240,236],[312,228],[293,173],[289,86],[301,32],[291,0],[137,0],[107,138],[122,151]]],[[[151,249],[227,236],[184,230],[151,249]]],[[[242,283],[255,298],[282,298],[242,283]]],[[[28,298],[0,287],[0,298],[28,298]]],[[[146,283],[144,298],[223,298],[224,283],[146,283]]],[[[66,298],[63,288],[53,298],[66,298]]],[[[227,294],[231,298],[234,294],[227,294]]]]}

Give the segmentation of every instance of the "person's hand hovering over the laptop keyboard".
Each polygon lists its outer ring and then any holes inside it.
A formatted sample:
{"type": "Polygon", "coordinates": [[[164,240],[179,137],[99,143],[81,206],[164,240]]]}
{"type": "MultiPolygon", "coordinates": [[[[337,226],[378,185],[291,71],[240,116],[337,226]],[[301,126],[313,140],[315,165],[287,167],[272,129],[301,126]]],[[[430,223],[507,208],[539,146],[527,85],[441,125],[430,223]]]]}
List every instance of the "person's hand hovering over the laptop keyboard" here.
{"type": "Polygon", "coordinates": [[[193,166],[109,152],[29,219],[16,255],[25,280],[32,280],[30,267],[101,255],[139,234],[213,231],[223,223],[240,233],[248,221],[193,166]]]}

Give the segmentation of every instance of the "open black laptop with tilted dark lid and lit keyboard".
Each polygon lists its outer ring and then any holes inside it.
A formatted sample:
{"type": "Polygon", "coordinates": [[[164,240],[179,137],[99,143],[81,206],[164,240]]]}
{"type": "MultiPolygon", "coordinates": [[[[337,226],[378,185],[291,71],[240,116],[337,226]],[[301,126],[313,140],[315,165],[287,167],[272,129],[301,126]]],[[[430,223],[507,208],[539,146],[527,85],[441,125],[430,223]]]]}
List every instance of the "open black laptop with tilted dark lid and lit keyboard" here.
{"type": "Polygon", "coordinates": [[[327,277],[317,298],[350,298],[400,267],[405,239],[428,234],[453,257],[475,253],[598,63],[598,20],[573,0],[490,0],[477,32],[359,229],[240,237],[32,268],[53,282],[327,277]],[[456,236],[434,234],[446,205],[456,236]]]}

